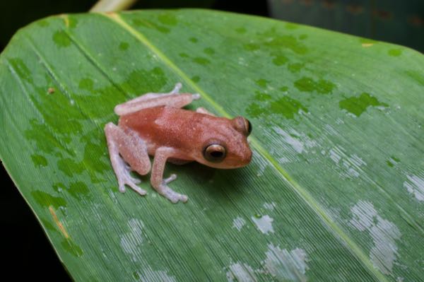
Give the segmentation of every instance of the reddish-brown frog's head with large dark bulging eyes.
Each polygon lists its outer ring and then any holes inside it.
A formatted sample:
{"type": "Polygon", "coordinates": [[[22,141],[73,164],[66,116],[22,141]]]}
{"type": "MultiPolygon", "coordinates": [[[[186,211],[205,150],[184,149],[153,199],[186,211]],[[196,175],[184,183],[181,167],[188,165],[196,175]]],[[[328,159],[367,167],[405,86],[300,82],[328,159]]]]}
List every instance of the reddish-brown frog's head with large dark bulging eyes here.
{"type": "Polygon", "coordinates": [[[252,151],[247,136],[252,132],[252,124],[245,117],[227,119],[226,126],[219,127],[209,136],[202,148],[199,163],[213,168],[241,168],[252,160],[252,151]]]}

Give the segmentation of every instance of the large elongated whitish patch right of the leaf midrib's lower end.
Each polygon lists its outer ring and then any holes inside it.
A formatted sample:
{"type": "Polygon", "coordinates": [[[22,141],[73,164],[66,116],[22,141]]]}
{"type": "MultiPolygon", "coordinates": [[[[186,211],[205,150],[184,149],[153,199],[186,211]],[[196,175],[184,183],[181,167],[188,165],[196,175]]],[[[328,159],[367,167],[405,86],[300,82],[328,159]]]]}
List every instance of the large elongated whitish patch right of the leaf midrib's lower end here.
{"type": "Polygon", "coordinates": [[[358,201],[351,211],[351,225],[360,231],[369,232],[374,242],[370,250],[372,264],[383,274],[391,274],[398,249],[395,241],[401,237],[399,229],[391,221],[379,216],[369,201],[358,201]]]}

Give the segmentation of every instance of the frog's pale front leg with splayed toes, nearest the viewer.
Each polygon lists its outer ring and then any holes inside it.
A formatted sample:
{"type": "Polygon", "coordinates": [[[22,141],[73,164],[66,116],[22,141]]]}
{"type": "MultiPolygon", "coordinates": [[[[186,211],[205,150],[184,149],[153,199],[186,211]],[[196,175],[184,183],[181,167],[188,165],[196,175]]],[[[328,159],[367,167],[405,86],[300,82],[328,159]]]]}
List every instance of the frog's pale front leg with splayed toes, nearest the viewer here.
{"type": "Polygon", "coordinates": [[[188,197],[183,194],[179,194],[167,186],[169,182],[175,180],[177,175],[170,175],[163,179],[163,170],[165,169],[165,163],[168,158],[172,158],[175,155],[176,150],[169,147],[160,147],[155,151],[155,159],[153,160],[153,168],[151,175],[151,184],[156,191],[165,196],[166,199],[177,203],[178,201],[186,202],[188,197]]]}

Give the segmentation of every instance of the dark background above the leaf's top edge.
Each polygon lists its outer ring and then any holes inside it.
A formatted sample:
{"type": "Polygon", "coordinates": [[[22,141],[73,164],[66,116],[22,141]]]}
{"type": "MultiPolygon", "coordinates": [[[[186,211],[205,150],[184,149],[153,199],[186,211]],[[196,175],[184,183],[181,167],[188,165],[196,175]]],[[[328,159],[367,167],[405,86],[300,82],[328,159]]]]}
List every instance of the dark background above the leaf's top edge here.
{"type": "MultiPolygon", "coordinates": [[[[84,13],[95,0],[0,0],[0,51],[18,28],[59,13],[84,13]]],[[[423,0],[139,0],[134,9],[213,8],[272,16],[424,52],[423,0]]]]}

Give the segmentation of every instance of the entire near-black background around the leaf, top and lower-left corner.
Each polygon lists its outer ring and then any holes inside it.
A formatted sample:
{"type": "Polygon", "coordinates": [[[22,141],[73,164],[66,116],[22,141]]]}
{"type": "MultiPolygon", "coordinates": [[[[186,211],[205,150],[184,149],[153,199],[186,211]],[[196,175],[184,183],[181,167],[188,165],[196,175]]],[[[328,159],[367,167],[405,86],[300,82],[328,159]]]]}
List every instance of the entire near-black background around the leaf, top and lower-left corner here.
{"type": "MultiPolygon", "coordinates": [[[[59,13],[83,13],[95,4],[88,0],[0,0],[0,50],[18,28],[59,13]]],[[[375,40],[405,45],[424,52],[423,0],[141,0],[135,8],[213,8],[338,30],[375,40]]],[[[25,173],[25,172],[23,172],[25,173]]],[[[20,281],[70,281],[66,270],[35,216],[6,170],[0,197],[2,276],[20,281]]]]}

